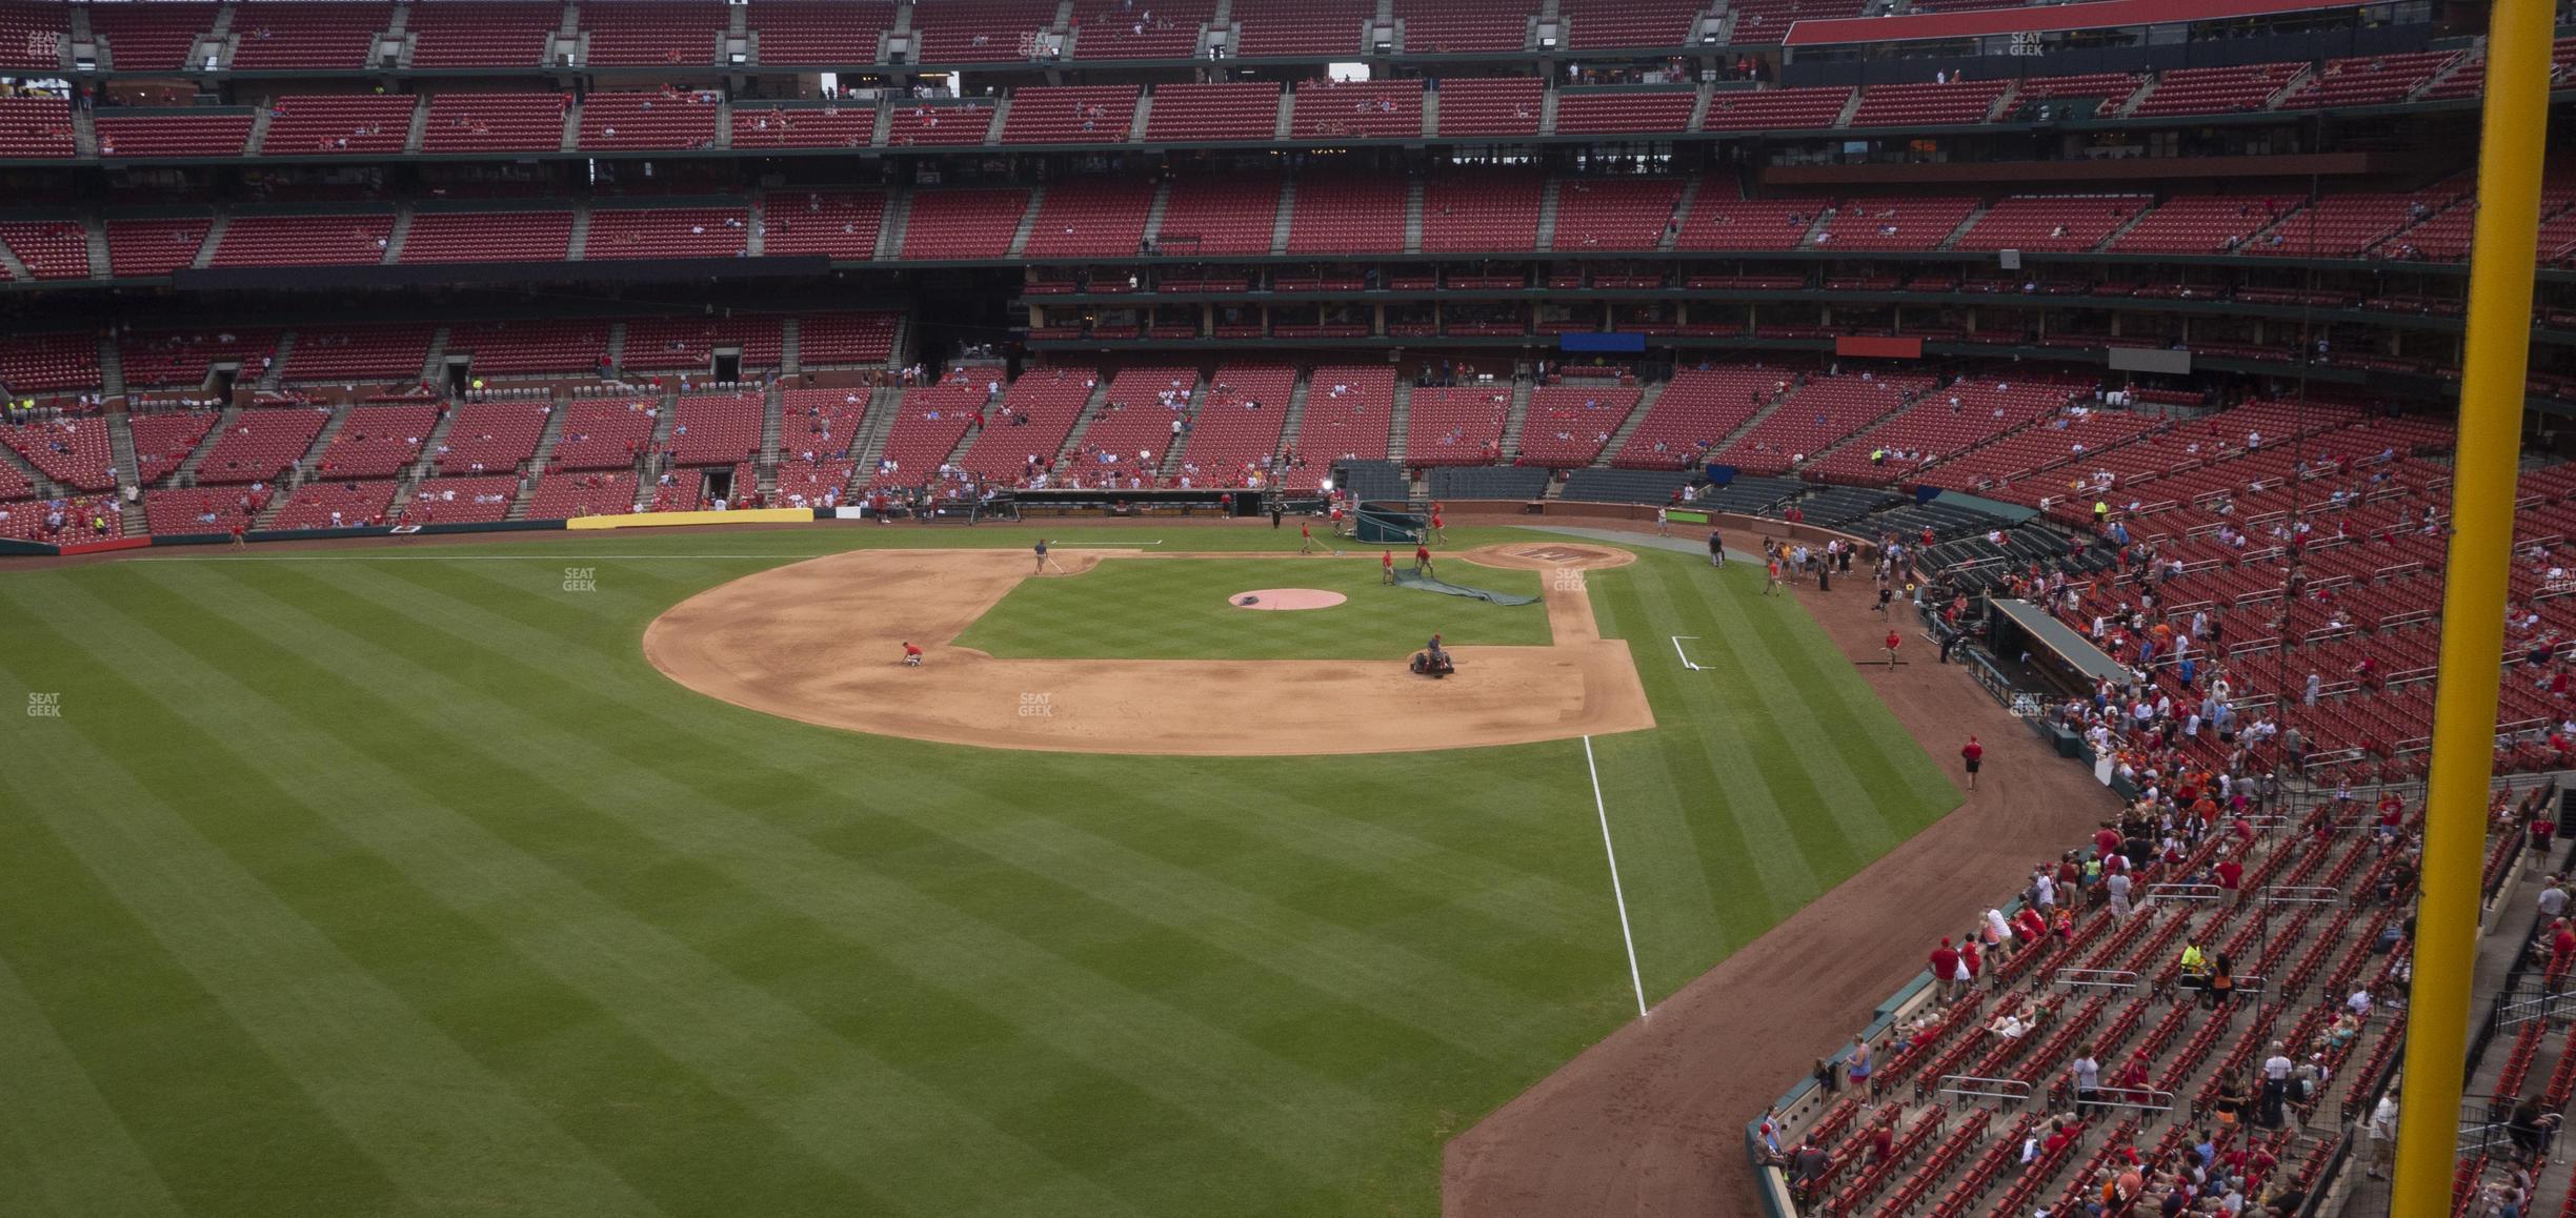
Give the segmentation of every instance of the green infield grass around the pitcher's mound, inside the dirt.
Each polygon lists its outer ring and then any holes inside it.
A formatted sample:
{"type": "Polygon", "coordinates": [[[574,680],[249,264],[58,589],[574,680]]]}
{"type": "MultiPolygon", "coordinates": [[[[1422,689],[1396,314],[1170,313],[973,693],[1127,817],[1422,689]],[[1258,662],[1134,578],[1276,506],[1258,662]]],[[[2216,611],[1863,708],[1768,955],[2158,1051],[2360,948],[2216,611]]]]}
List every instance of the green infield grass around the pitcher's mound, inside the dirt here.
{"type": "MultiPolygon", "coordinates": [[[[1540,592],[1538,572],[1458,561],[1440,574],[1489,592],[1540,592]]],[[[1435,631],[1453,646],[1546,646],[1548,608],[1388,587],[1378,561],[1360,556],[1110,559],[1064,579],[1023,579],[958,646],[1082,659],[1404,659],[1435,631]],[[1321,587],[1350,600],[1296,613],[1234,608],[1236,592],[1260,587],[1321,587]]]]}

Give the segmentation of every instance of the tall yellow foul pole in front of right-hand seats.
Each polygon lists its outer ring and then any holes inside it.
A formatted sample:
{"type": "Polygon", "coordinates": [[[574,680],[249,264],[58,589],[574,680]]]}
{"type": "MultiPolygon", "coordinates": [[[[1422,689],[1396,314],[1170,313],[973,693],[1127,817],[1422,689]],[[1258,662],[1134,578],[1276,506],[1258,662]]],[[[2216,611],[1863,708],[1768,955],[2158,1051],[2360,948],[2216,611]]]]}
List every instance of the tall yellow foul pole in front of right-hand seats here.
{"type": "Polygon", "coordinates": [[[2478,958],[2478,873],[2494,775],[2504,587],[2514,546],[2522,381],[2532,350],[2540,157],[2550,108],[2553,0],[2496,0],[2486,44],[2478,229],[2468,270],[2460,458],[2452,469],[2442,592],[2442,693],[2432,726],[2424,904],[2406,1009],[2406,1102],[2391,1213],[2450,1215],[2468,999],[2478,958]]]}

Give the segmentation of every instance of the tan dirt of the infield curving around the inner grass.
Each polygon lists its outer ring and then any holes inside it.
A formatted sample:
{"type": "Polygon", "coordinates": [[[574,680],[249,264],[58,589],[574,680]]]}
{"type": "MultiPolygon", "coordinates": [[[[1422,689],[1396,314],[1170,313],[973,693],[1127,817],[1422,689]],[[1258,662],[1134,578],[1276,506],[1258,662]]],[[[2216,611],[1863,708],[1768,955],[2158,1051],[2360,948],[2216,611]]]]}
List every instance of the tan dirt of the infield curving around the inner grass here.
{"type": "MultiPolygon", "coordinates": [[[[1633,559],[1592,551],[1597,564],[1633,559]]],[[[1216,556],[1275,559],[1283,572],[1296,564],[1280,554],[1059,551],[1056,569],[1216,556]]],[[[1569,564],[1579,556],[1558,567],[1569,564]]],[[[848,551],[775,567],[654,618],[644,657],[672,680],[752,711],[1002,749],[1280,757],[1530,744],[1654,726],[1628,644],[1600,639],[1579,579],[1548,592],[1553,646],[1458,646],[1458,675],[1448,680],[1406,672],[1406,657],[994,659],[956,646],[1033,567],[1028,554],[989,548],[848,551]],[[904,641],[925,649],[922,667],[899,662],[904,641]]]]}

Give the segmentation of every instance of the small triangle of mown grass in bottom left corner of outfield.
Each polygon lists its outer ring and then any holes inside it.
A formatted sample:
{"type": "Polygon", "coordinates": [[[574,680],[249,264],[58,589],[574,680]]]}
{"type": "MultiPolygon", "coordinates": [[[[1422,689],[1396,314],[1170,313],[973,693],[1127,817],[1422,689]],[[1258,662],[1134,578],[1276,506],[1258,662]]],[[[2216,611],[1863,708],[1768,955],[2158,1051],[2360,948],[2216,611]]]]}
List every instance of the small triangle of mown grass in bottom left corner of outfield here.
{"type": "Polygon", "coordinates": [[[8,958],[0,950],[0,1197],[21,1215],[178,1215],[178,1197],[8,958]]]}

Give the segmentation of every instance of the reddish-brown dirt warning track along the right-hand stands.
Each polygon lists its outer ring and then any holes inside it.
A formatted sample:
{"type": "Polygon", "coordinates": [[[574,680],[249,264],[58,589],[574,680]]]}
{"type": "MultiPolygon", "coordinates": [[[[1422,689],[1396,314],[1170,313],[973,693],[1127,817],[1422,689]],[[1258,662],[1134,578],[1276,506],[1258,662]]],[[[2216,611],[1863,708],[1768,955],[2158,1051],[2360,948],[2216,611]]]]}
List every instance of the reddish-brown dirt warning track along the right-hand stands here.
{"type": "MultiPolygon", "coordinates": [[[[1595,520],[1584,520],[1597,525],[1595,520]]],[[[1759,551],[1759,538],[1741,538],[1759,551]]],[[[1880,657],[1870,585],[1795,592],[1847,657],[1880,657]]],[[[1935,664],[1906,621],[1909,664],[1862,680],[1958,778],[1986,744],[1978,791],[1940,824],[1613,1033],[1448,1146],[1450,1218],[1759,1215],[1744,1123],[1868,1025],[1945,930],[2079,845],[2117,801],[2043,747],[1965,672],[1935,664]]],[[[1618,809],[1613,809],[1613,816],[1618,809]]]]}

